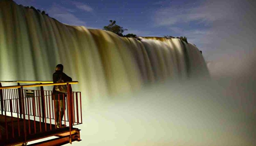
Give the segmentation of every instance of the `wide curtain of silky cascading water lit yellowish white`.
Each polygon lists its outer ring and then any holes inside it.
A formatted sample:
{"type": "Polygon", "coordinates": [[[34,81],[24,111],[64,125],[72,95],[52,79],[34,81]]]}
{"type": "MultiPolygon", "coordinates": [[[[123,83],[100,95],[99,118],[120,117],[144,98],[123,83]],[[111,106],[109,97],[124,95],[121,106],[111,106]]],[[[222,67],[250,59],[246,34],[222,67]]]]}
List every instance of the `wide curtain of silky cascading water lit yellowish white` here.
{"type": "MultiPolygon", "coordinates": [[[[52,80],[57,64],[87,97],[128,93],[146,83],[208,76],[199,50],[180,39],[119,37],[0,4],[1,80],[52,80]]],[[[76,89],[76,87],[74,87],[76,89]]]]}

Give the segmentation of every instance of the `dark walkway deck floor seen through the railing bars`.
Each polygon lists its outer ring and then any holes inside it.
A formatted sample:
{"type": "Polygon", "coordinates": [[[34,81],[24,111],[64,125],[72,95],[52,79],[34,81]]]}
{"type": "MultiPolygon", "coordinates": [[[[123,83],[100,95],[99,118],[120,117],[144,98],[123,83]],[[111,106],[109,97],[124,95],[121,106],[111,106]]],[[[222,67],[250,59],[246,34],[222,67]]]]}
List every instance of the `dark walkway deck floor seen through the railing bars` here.
{"type": "MultiPolygon", "coordinates": [[[[7,124],[5,124],[5,115],[0,115],[0,129],[1,129],[0,145],[14,145],[14,144],[24,142],[25,134],[24,134],[24,128],[23,128],[24,127],[23,119],[19,119],[19,122],[18,122],[17,117],[6,116],[6,123],[7,124]],[[13,122],[13,126],[12,126],[12,122],[13,122]],[[18,126],[20,127],[20,131],[18,131],[18,126]],[[7,128],[7,134],[6,134],[6,128],[7,128]],[[13,139],[15,139],[15,141],[13,139]]],[[[35,121],[35,126],[34,126],[34,120],[26,120],[26,132],[27,132],[26,141],[29,142],[29,141],[46,138],[49,136],[59,135],[61,133],[66,133],[66,132],[69,132],[69,127],[55,128],[54,124],[52,125],[46,124],[46,130],[45,130],[45,124],[41,122],[41,130],[42,132],[40,132],[40,122],[35,121]],[[30,122],[30,127],[28,126],[29,122],[30,122]],[[52,130],[50,129],[50,127],[52,127],[52,130]],[[29,134],[29,128],[30,128],[30,134],[29,134]]],[[[72,128],[72,131],[73,130],[78,130],[78,129],[72,128]]]]}

